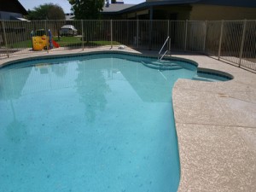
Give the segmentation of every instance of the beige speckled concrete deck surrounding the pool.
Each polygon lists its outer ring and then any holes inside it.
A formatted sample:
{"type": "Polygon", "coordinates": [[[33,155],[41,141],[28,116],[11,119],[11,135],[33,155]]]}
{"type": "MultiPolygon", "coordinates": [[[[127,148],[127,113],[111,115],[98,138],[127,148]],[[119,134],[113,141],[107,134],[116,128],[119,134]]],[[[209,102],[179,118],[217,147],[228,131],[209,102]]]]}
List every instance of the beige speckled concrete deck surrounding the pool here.
{"type": "MultiPolygon", "coordinates": [[[[0,60],[0,66],[31,56],[95,50],[109,47],[15,55],[0,60]]],[[[139,53],[128,48],[124,51],[139,53]]],[[[155,55],[155,52],[144,53],[155,55]]],[[[211,83],[178,79],[173,88],[181,164],[178,191],[256,191],[256,74],[206,55],[172,56],[234,76],[230,81],[211,83]]]]}

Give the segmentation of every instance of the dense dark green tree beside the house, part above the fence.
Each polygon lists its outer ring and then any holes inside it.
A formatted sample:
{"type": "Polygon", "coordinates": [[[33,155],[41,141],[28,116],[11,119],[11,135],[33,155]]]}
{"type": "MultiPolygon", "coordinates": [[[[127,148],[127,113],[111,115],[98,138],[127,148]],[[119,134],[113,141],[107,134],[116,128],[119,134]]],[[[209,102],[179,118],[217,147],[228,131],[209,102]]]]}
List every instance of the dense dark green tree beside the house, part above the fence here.
{"type": "Polygon", "coordinates": [[[69,0],[77,20],[98,20],[105,0],[69,0]]]}

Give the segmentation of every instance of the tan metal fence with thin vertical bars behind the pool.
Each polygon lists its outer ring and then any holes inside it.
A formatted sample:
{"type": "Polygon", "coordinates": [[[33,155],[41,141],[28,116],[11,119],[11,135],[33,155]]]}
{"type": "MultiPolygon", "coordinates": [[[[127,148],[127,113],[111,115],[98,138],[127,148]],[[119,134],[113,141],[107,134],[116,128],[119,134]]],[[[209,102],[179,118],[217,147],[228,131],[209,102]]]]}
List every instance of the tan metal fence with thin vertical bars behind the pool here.
{"type": "Polygon", "coordinates": [[[172,52],[195,52],[256,71],[256,20],[0,20],[0,59],[33,52],[125,45],[159,50],[169,37],[172,52]],[[60,36],[61,26],[78,30],[60,36]],[[32,50],[32,34],[48,30],[60,46],[32,50]]]}

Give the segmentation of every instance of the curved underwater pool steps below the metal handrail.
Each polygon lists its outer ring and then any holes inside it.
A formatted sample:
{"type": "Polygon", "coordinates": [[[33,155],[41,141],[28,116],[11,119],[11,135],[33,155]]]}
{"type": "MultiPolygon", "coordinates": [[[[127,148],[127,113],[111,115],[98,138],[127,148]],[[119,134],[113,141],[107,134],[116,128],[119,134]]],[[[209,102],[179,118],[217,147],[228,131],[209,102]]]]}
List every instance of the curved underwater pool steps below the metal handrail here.
{"type": "Polygon", "coordinates": [[[183,68],[177,65],[176,63],[170,63],[170,62],[164,62],[164,61],[152,61],[152,62],[142,61],[142,63],[145,67],[159,69],[159,70],[177,70],[177,69],[183,68]]]}

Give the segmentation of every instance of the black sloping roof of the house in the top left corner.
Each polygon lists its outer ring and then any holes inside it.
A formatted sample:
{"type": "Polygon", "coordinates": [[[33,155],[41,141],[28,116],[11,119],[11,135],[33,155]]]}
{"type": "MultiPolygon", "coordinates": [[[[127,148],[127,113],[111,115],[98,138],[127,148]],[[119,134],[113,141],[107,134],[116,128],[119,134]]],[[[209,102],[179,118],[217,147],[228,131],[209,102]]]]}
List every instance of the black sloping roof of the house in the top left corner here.
{"type": "Polygon", "coordinates": [[[20,4],[18,0],[1,0],[0,11],[27,15],[26,9],[20,4]]]}

